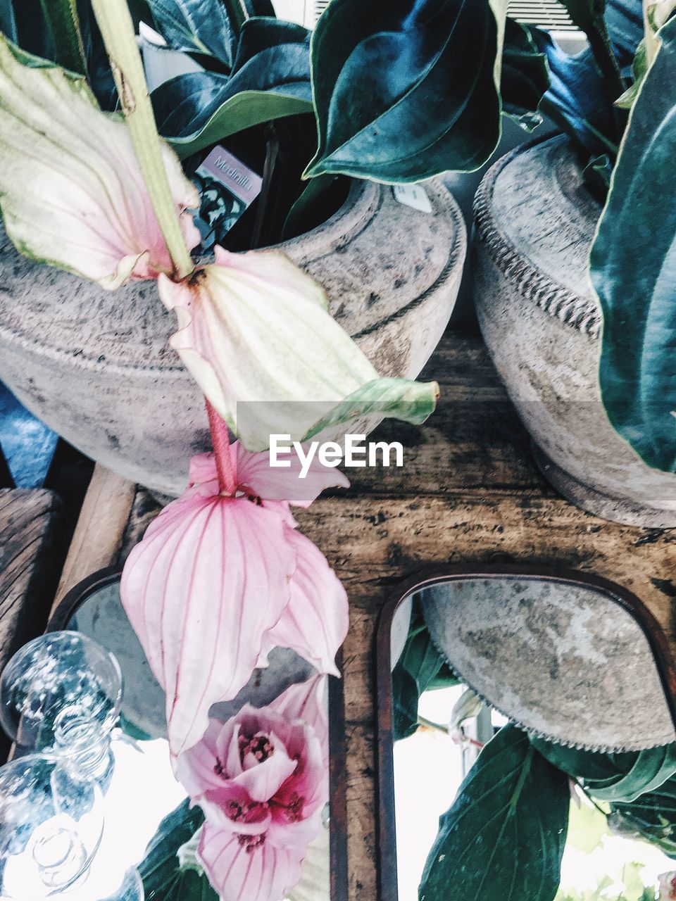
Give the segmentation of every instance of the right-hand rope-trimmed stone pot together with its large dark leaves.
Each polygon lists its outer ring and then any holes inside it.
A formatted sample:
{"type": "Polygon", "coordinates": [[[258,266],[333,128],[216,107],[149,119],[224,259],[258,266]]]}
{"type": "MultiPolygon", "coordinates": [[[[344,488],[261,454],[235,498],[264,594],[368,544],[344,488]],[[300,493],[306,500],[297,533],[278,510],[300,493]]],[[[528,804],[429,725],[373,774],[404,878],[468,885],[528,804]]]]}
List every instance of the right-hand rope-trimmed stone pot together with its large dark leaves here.
{"type": "Polygon", "coordinates": [[[334,0],[313,42],[320,150],[310,171],[415,180],[470,170],[495,148],[501,113],[559,123],[564,135],[500,159],[478,192],[481,330],[553,485],[609,519],[673,526],[676,381],[665,286],[674,214],[663,159],[674,5],[562,5],[589,36],[577,56],[537,29],[515,32],[498,2],[385,11],[334,0]],[[341,53],[329,60],[324,45],[341,53]],[[420,52],[392,87],[396,46],[420,52]],[[551,83],[542,99],[538,58],[551,83]],[[367,67],[390,95],[355,87],[367,67]],[[378,127],[369,149],[366,129],[335,127],[333,110],[351,105],[353,121],[378,127]],[[417,148],[406,159],[402,133],[407,150],[417,148]]]}

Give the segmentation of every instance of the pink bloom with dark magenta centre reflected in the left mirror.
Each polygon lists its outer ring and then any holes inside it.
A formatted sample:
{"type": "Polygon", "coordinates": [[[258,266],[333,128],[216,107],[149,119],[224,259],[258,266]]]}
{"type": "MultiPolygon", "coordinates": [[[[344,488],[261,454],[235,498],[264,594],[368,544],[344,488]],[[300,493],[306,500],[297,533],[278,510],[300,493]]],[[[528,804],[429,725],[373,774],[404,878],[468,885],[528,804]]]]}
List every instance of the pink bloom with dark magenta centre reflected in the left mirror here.
{"type": "Polygon", "coordinates": [[[301,878],[329,797],[325,678],[211,720],[177,775],[202,807],[197,856],[222,901],[280,901],[301,878]]]}

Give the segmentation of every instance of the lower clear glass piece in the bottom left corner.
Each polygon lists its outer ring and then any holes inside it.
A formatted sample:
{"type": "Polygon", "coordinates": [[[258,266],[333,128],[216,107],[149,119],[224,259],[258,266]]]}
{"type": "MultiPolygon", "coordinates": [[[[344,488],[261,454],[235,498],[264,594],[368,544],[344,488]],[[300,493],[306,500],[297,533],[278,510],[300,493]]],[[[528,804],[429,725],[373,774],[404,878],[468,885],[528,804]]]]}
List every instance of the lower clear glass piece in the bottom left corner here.
{"type": "Polygon", "coordinates": [[[0,768],[0,898],[60,896],[87,873],[103,829],[101,787],[78,763],[28,754],[0,768]]]}

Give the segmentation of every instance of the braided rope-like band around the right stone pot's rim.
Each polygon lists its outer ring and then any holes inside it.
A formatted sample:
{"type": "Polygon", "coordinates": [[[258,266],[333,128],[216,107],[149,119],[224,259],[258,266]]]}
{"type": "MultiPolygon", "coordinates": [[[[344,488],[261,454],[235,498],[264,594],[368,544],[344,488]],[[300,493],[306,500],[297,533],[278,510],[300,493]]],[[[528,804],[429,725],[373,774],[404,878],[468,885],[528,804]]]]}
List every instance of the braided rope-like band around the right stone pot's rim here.
{"type": "Polygon", "coordinates": [[[526,300],[539,306],[544,313],[570,325],[571,328],[589,335],[592,339],[598,339],[602,315],[591,287],[589,296],[580,296],[553,281],[549,275],[536,268],[515,243],[509,241],[492,214],[493,196],[498,177],[503,170],[517,157],[547,142],[568,144],[567,156],[571,159],[571,164],[580,169],[578,163],[572,159],[570,141],[563,134],[536,138],[511,150],[489,168],[474,196],[476,238],[484,244],[498,270],[515,285],[516,290],[526,300]]]}

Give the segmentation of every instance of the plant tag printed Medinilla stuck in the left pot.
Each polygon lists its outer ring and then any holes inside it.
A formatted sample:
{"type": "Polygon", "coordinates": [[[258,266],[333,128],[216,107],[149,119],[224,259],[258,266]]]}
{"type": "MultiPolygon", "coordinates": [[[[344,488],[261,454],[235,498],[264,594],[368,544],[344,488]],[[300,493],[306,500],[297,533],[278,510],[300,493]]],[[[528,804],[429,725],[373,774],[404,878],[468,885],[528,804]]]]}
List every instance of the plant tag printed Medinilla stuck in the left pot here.
{"type": "Polygon", "coordinates": [[[202,250],[211,250],[259,196],[263,180],[218,145],[196,168],[194,181],[200,198],[196,226],[202,250]]]}

